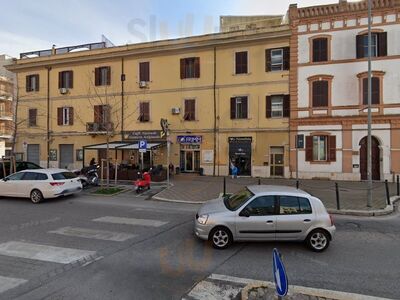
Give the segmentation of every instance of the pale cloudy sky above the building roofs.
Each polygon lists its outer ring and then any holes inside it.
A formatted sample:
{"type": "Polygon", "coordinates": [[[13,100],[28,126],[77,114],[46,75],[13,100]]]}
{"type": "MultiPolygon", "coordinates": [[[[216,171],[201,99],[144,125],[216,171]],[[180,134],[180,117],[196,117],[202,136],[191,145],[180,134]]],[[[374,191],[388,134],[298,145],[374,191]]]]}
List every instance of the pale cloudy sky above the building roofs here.
{"type": "Polygon", "coordinates": [[[114,44],[218,30],[220,15],[285,14],[337,0],[0,0],[0,54],[101,41],[114,44]]]}

